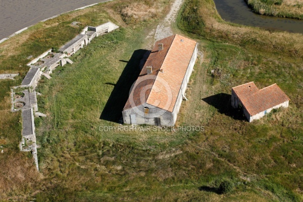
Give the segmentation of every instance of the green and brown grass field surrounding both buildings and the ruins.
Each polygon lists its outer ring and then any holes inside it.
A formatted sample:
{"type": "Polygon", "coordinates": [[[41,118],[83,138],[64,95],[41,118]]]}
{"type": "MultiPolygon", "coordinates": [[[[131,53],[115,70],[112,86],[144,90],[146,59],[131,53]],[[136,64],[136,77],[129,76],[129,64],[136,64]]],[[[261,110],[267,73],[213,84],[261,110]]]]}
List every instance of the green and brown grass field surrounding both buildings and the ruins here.
{"type": "MultiPolygon", "coordinates": [[[[21,82],[22,76],[16,81],[1,81],[0,106],[6,118],[0,118],[0,144],[5,147],[0,162],[7,169],[0,170],[4,176],[0,178],[0,198],[302,200],[303,36],[226,23],[213,1],[186,0],[174,29],[197,40],[204,59],[196,62],[187,89],[189,100],[183,102],[176,126],[204,126],[205,131],[105,132],[99,128],[120,126],[117,121],[139,73],[139,61],[153,42],[146,36],[163,17],[128,15],[136,13],[138,4],[128,7],[123,3],[92,7],[83,13],[67,14],[70,17],[64,15],[62,21],[54,19],[50,25],[36,25],[41,30],[44,26],[57,29],[57,25],[69,27],[73,21],[84,26],[110,19],[121,28],[96,38],[71,58],[73,65],[59,67],[51,80],[42,78],[39,83],[39,111],[48,115],[35,119],[37,143],[41,145],[40,174],[35,172],[29,153],[18,153],[20,114],[9,111],[9,86],[21,82]],[[220,69],[221,75],[213,77],[212,69],[220,69]],[[260,88],[277,83],[290,97],[290,107],[246,122],[231,108],[230,91],[232,86],[248,81],[255,81],[260,88]],[[231,181],[234,190],[220,194],[218,187],[224,180],[231,181]]],[[[144,4],[164,13],[169,5],[167,1],[144,4]]],[[[76,35],[78,29],[71,29],[64,40],[76,35]]],[[[24,33],[29,38],[31,34],[24,33]]],[[[46,35],[40,40],[50,38],[46,35]]],[[[60,41],[49,45],[60,46],[60,41]]],[[[22,60],[34,53],[18,48],[13,51],[22,60]]],[[[25,72],[25,66],[19,70],[21,59],[4,58],[6,64],[16,63],[13,70],[25,72]]],[[[9,66],[1,71],[7,69],[9,66]]]]}

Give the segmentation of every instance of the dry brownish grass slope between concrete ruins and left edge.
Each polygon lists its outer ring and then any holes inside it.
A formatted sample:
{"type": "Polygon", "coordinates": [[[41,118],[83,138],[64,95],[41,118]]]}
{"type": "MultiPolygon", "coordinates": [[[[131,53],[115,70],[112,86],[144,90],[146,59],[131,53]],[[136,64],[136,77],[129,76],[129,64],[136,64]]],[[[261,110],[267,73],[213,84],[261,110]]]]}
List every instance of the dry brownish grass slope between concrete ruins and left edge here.
{"type": "MultiPolygon", "coordinates": [[[[51,47],[58,47],[76,36],[85,25],[98,25],[113,20],[100,7],[70,12],[58,18],[38,23],[22,34],[0,45],[0,73],[20,73],[15,80],[0,80],[0,146],[4,154],[0,156],[0,198],[23,200],[40,185],[41,176],[35,171],[30,153],[20,153],[21,112],[11,113],[10,87],[20,85],[28,71],[26,63],[51,47]],[[80,20],[80,27],[69,24],[80,20]]],[[[113,20],[116,22],[115,20],[113,20]]],[[[31,194],[32,195],[32,194],[31,194]]]]}

